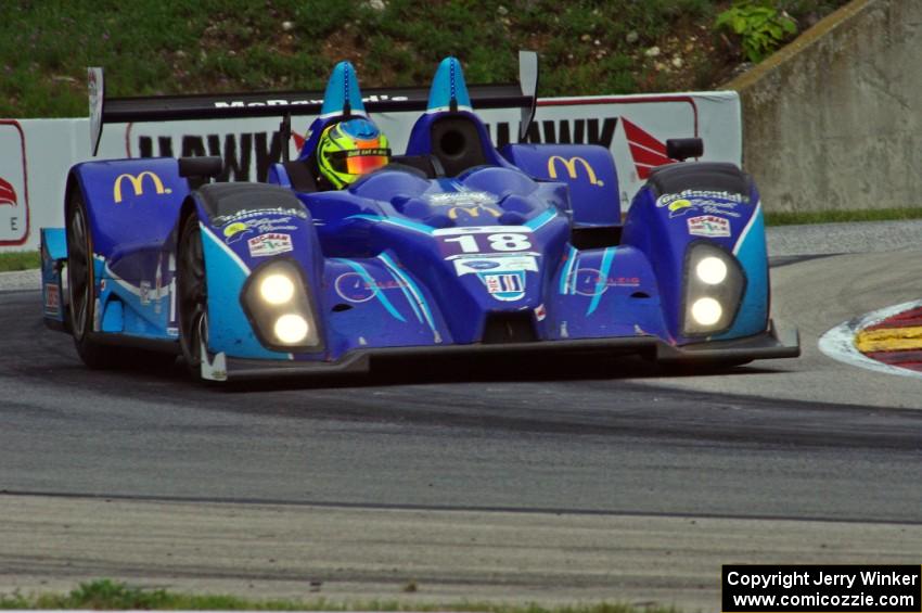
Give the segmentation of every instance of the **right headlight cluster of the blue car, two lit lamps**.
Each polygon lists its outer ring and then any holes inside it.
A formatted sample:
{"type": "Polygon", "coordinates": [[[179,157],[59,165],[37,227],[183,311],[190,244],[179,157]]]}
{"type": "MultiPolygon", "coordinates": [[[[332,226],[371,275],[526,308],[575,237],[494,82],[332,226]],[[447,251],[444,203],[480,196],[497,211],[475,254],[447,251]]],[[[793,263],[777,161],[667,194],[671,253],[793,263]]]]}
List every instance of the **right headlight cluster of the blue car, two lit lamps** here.
{"type": "Polygon", "coordinates": [[[733,323],[746,286],[740,263],[714,243],[693,243],[686,255],[682,334],[713,336],[733,323]]]}

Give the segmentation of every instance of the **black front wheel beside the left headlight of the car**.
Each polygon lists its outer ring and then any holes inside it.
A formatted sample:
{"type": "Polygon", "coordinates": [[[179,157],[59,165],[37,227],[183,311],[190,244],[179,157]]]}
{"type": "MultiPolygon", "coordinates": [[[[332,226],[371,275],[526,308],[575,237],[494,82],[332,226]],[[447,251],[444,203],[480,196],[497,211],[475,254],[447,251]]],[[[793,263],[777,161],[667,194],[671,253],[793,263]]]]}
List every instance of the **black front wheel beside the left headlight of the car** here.
{"type": "Polygon", "coordinates": [[[177,293],[182,357],[192,376],[201,380],[203,347],[208,346],[208,285],[202,231],[194,213],[185,218],[179,233],[177,293]]]}

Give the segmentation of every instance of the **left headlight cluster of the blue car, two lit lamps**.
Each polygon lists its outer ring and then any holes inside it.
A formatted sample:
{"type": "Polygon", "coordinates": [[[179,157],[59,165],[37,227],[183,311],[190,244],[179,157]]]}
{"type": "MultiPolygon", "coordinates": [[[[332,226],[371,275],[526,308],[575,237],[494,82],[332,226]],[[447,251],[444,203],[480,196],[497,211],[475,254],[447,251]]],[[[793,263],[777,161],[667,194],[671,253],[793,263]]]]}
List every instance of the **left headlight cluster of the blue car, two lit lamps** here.
{"type": "Polygon", "coordinates": [[[273,259],[254,270],[241,302],[265,347],[304,353],[323,349],[308,285],[294,260],[273,259]]]}

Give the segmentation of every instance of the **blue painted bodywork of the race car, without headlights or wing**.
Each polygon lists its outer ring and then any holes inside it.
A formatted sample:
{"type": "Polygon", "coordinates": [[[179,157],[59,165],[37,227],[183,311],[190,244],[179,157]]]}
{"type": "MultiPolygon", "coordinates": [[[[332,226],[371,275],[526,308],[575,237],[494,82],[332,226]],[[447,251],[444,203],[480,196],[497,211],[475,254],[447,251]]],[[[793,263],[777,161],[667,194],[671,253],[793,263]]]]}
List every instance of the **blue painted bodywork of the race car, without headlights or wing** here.
{"type": "MultiPolygon", "coordinates": [[[[190,190],[172,158],[89,162],[69,190],[87,205],[98,301],[93,331],[176,344],[177,234],[200,220],[207,276],[209,353],[279,363],[336,362],[364,349],[485,342],[497,321],[533,341],[653,337],[669,346],[741,339],[768,328],[768,266],[761,207],[750,193],[648,183],[624,225],[617,171],[601,146],[513,144],[502,154],[471,108],[453,58],[438,68],[428,110],[407,155],[432,156],[443,117],[466,122],[485,164],[426,177],[385,167],[341,191],[297,192],[286,167],[269,183],[296,200],[266,208],[254,200],[217,215],[190,190]],[[622,227],[623,226],[623,227],[622,227]],[[607,242],[580,232],[617,230],[607,242]],[[706,242],[739,263],[745,291],[732,323],[710,339],[682,334],[689,250],[706,242]],[[244,305],[248,280],[269,263],[292,263],[312,305],[321,343],[286,353],[260,342],[244,305]],[[522,323],[524,322],[524,323],[522,323]]],[[[364,115],[358,79],[337,64],[299,162],[344,115],[364,115]]],[[[44,315],[65,321],[63,230],[42,231],[44,315]]]]}

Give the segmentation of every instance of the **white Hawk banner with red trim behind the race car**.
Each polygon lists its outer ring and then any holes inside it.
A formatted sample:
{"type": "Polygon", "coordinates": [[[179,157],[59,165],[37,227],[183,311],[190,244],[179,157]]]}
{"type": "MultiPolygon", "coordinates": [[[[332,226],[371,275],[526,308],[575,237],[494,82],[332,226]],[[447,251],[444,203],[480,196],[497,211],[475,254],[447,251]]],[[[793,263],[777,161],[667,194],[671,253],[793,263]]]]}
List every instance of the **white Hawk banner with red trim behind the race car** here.
{"type": "MultiPolygon", "coordinates": [[[[494,142],[518,140],[518,110],[478,113],[494,142]]],[[[407,145],[415,113],[375,114],[392,149],[407,145]]],[[[297,154],[312,117],[294,117],[289,143],[297,154]]],[[[741,163],[742,124],[737,92],[550,98],[538,111],[528,142],[593,143],[607,148],[618,173],[622,209],[650,168],[670,162],[666,139],[699,137],[702,159],[741,163]]],[[[97,159],[219,155],[228,180],[264,180],[281,157],[279,120],[219,119],[110,125],[97,159]]],[[[0,119],[0,252],[35,250],[39,229],[62,227],[67,169],[90,159],[89,119],[0,119]]]]}

